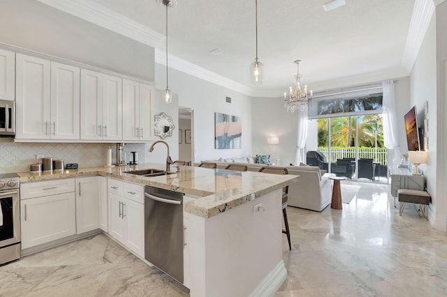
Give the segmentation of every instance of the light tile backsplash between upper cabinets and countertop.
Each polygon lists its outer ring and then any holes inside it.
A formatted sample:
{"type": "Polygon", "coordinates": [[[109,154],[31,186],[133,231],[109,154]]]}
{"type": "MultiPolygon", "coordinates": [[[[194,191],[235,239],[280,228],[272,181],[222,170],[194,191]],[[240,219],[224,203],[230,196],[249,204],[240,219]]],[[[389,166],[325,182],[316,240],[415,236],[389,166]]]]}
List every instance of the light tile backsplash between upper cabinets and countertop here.
{"type": "MultiPolygon", "coordinates": [[[[116,144],[67,144],[67,143],[27,143],[13,142],[10,138],[0,138],[0,173],[29,172],[29,165],[36,162],[36,154],[78,163],[79,167],[104,166],[106,150],[112,148],[112,162],[116,160],[116,144]]],[[[131,160],[131,151],[137,151],[140,162],[145,162],[145,144],[126,144],[126,161],[131,160]]]]}

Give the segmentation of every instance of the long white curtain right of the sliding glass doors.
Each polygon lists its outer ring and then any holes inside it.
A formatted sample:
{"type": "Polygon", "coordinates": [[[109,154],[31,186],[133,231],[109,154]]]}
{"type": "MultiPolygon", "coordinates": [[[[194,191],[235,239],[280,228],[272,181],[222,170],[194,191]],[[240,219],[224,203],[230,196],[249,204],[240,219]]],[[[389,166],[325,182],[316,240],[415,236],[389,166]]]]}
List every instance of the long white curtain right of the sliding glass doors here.
{"type": "Polygon", "coordinates": [[[383,86],[383,142],[388,148],[388,167],[393,168],[400,161],[400,147],[397,143],[396,104],[394,82],[382,82],[383,86]]]}

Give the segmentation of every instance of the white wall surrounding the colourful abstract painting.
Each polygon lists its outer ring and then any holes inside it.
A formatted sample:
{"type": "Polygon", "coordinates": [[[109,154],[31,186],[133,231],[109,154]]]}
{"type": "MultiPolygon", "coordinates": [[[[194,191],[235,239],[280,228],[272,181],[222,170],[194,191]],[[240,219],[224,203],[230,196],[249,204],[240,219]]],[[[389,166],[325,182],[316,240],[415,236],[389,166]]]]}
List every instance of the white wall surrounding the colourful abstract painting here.
{"type": "MultiPolygon", "coordinates": [[[[158,89],[166,86],[166,66],[155,64],[158,89]]],[[[251,155],[251,98],[202,79],[169,69],[169,89],[178,94],[178,105],[194,111],[193,142],[195,162],[251,155]],[[232,98],[231,103],[226,97],[232,98]],[[242,118],[242,148],[214,148],[214,112],[242,118]]],[[[177,142],[177,138],[175,139],[177,142]]],[[[177,142],[178,143],[178,142],[177,142]]],[[[177,144],[178,147],[178,144],[177,144]]]]}

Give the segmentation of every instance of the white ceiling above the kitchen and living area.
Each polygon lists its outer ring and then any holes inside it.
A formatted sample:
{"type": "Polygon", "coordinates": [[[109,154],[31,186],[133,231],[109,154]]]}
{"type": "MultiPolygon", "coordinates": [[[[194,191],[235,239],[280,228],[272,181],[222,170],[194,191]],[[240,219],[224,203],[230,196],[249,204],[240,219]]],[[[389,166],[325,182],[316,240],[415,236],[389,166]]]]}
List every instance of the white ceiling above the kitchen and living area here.
{"type": "MultiPolygon", "coordinates": [[[[159,1],[78,0],[101,5],[164,38],[166,8],[159,1]]],[[[176,1],[168,11],[169,54],[258,94],[281,96],[293,83],[297,59],[302,60],[302,81],[311,89],[336,85],[339,79],[346,86],[346,77],[355,84],[406,76],[411,70],[402,57],[415,0],[346,0],[328,12],[322,4],[329,0],[259,0],[258,58],[265,71],[260,85],[250,84],[249,77],[256,56],[255,1],[176,1]],[[210,54],[215,48],[222,53],[210,54]]],[[[156,49],[164,52],[165,40],[156,49]]]]}

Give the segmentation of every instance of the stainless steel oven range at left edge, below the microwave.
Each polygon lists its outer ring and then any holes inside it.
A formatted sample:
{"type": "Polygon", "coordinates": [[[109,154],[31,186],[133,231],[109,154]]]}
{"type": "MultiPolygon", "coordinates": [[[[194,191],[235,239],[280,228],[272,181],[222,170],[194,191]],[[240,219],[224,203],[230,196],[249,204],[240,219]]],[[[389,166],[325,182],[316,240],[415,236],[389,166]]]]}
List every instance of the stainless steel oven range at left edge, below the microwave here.
{"type": "Polygon", "coordinates": [[[20,258],[19,176],[0,174],[0,264],[20,258]]]}

